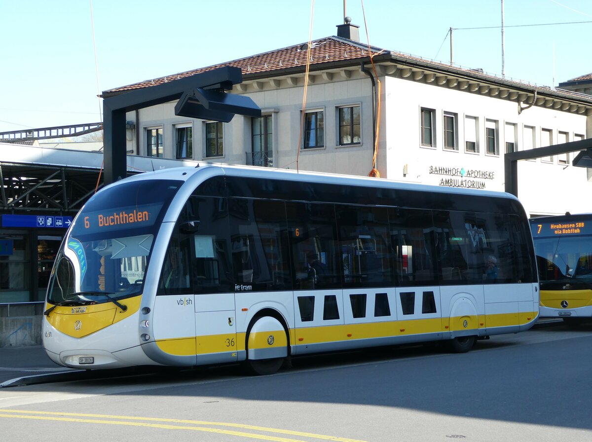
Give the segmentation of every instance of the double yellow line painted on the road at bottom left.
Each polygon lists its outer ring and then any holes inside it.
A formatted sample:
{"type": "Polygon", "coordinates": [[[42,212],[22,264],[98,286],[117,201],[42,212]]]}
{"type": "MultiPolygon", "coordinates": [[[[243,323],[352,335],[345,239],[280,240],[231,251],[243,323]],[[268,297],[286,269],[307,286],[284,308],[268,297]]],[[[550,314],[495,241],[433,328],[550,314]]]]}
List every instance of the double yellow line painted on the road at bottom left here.
{"type": "Polygon", "coordinates": [[[152,424],[148,422],[122,422],[122,421],[108,421],[108,420],[95,420],[95,419],[82,419],[82,418],[103,418],[103,419],[127,419],[131,421],[157,421],[157,422],[175,422],[179,424],[197,424],[197,425],[219,425],[221,427],[237,427],[245,430],[258,430],[268,431],[269,433],[282,433],[296,436],[312,437],[323,440],[332,440],[337,442],[363,442],[357,439],[349,439],[343,437],[327,436],[323,434],[304,433],[302,431],[293,430],[280,430],[279,428],[267,428],[257,427],[255,425],[243,425],[233,424],[230,422],[208,422],[208,421],[194,421],[184,419],[168,419],[168,418],[151,418],[151,417],[135,417],[135,416],[117,416],[108,414],[84,414],[84,413],[67,413],[57,411],[28,411],[28,410],[12,410],[12,409],[1,409],[2,413],[15,413],[15,414],[1,414],[0,417],[6,418],[21,418],[21,419],[38,419],[38,420],[50,420],[50,421],[63,421],[63,422],[86,422],[90,424],[114,424],[114,425],[131,425],[135,427],[155,427],[155,428],[166,428],[169,430],[195,430],[195,431],[208,431],[210,433],[230,434],[244,437],[251,437],[263,440],[274,440],[279,442],[302,442],[296,439],[288,439],[284,437],[267,436],[252,433],[242,433],[240,431],[221,430],[220,428],[205,428],[205,427],[184,427],[181,425],[166,425],[166,424],[152,424]],[[22,413],[25,415],[18,415],[16,413],[22,413]],[[28,415],[26,415],[28,414],[28,415]],[[40,416],[31,416],[31,414],[38,414],[40,416]],[[58,416],[72,416],[70,418],[58,417],[58,416]],[[74,418],[78,417],[78,418],[74,418]]]}

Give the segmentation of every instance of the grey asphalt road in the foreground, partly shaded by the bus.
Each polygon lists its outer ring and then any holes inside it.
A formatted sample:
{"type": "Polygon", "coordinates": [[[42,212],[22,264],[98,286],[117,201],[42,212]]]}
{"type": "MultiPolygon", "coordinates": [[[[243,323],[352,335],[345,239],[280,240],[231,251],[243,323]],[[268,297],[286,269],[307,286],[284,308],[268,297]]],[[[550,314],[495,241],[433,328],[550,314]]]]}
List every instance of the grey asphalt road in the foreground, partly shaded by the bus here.
{"type": "Polygon", "coordinates": [[[2,388],[0,428],[7,441],[588,442],[591,344],[592,325],[551,324],[465,354],[390,347],[272,376],[227,366],[2,388]]]}

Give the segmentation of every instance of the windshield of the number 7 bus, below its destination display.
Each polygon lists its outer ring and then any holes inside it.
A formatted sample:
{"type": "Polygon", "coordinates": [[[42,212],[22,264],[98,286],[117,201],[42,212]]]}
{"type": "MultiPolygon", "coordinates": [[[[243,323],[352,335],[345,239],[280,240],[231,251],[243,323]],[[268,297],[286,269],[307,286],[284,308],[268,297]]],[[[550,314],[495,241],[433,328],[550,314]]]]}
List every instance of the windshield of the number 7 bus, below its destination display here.
{"type": "Polygon", "coordinates": [[[541,285],[592,283],[592,237],[536,238],[535,249],[541,285]]]}

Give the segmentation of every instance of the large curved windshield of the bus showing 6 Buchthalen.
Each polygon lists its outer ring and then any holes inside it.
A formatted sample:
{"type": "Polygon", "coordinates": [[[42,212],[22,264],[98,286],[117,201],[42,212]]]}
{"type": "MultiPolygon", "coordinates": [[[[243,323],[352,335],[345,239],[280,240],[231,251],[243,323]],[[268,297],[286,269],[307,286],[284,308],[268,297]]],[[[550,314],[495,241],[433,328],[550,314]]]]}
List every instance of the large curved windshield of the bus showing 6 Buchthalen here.
{"type": "Polygon", "coordinates": [[[160,222],[181,184],[139,180],[89,199],[56,257],[47,300],[85,304],[140,293],[160,222]]]}

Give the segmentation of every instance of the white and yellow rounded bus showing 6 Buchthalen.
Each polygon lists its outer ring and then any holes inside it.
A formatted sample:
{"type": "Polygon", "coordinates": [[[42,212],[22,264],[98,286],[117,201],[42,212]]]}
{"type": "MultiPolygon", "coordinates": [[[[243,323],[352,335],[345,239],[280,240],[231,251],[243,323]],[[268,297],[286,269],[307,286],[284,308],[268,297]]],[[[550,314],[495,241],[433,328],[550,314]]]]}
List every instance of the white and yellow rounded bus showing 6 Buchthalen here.
{"type": "Polygon", "coordinates": [[[56,257],[43,344],[104,369],[475,340],[538,317],[529,223],[506,193],[257,167],[120,180],[56,257]]]}

